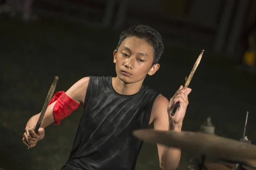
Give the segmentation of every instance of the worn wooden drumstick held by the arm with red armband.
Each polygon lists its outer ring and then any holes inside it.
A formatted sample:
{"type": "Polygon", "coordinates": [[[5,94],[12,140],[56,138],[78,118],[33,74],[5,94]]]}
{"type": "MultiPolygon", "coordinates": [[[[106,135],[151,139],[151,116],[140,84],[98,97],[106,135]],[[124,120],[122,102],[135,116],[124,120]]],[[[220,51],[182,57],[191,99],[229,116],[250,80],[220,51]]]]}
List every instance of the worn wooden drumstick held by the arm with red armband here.
{"type": "MultiPolygon", "coordinates": [[[[55,76],[55,78],[54,78],[54,80],[53,80],[53,82],[52,82],[52,85],[51,85],[51,87],[50,87],[50,89],[49,89],[49,91],[48,91],[48,94],[47,94],[47,96],[46,96],[46,99],[45,99],[45,101],[44,101],[44,105],[43,105],[43,108],[42,108],[42,110],[41,110],[41,114],[40,114],[40,116],[39,116],[38,122],[37,122],[37,124],[35,125],[35,133],[38,133],[38,129],[39,129],[39,127],[41,126],[41,123],[42,123],[42,120],[43,120],[43,118],[44,118],[44,114],[45,114],[45,112],[46,112],[46,109],[47,109],[47,107],[48,107],[48,104],[49,104],[50,100],[52,99],[52,96],[53,96],[53,93],[54,93],[54,91],[55,91],[57,82],[58,82],[58,76],[55,76]]],[[[29,148],[30,148],[30,147],[28,147],[28,149],[29,149],[29,148]]]]}

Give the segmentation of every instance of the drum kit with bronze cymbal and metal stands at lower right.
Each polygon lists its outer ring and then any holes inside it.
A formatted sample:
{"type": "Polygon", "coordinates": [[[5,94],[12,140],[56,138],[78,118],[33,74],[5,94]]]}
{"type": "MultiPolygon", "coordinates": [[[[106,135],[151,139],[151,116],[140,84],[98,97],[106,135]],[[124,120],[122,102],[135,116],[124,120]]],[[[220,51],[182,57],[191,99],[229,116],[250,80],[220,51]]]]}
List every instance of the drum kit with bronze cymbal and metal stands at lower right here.
{"type": "Polygon", "coordinates": [[[215,135],[210,117],[201,125],[199,132],[145,129],[135,130],[133,134],[145,142],[195,154],[189,161],[189,170],[256,170],[256,145],[245,136],[247,118],[248,112],[243,137],[239,141],[215,135]]]}

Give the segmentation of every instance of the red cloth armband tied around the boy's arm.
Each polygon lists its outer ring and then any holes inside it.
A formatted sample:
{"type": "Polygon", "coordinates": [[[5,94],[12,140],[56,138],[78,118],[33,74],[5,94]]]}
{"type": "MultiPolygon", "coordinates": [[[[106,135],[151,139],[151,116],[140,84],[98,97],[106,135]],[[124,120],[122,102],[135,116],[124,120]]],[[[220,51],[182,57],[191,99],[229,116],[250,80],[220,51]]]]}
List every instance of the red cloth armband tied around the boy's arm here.
{"type": "Polygon", "coordinates": [[[49,105],[53,102],[55,103],[53,107],[53,117],[55,120],[55,125],[59,125],[61,119],[69,116],[73,111],[79,107],[79,103],[71,99],[64,91],[57,92],[49,102],[49,105]]]}

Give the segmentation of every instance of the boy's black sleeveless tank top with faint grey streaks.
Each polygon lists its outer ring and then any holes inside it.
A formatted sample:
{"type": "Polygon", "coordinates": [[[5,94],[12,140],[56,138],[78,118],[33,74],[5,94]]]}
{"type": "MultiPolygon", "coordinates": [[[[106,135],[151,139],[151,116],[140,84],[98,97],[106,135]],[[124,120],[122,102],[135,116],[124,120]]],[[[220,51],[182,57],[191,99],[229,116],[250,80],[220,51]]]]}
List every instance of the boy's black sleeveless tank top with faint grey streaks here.
{"type": "Polygon", "coordinates": [[[134,170],[143,144],[133,130],[147,128],[158,93],[143,85],[118,94],[111,77],[90,77],[73,148],[63,170],[134,170]]]}

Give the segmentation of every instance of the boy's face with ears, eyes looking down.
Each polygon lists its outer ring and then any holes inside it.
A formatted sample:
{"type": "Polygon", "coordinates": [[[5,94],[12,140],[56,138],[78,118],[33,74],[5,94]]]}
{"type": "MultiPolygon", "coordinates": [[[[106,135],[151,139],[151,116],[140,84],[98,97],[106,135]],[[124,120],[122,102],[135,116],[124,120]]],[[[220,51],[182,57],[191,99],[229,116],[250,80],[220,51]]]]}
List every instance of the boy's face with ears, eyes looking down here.
{"type": "Polygon", "coordinates": [[[126,38],[113,55],[117,77],[126,83],[143,81],[147,74],[153,75],[160,67],[159,64],[152,66],[154,48],[141,38],[126,38]]]}

